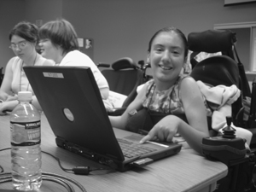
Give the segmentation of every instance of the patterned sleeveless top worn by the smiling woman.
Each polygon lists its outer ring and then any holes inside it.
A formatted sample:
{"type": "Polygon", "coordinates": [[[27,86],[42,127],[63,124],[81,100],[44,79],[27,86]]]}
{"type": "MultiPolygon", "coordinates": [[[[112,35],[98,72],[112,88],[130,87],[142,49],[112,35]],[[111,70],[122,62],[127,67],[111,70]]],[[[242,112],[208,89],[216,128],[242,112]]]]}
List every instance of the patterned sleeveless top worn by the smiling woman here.
{"type": "MultiPolygon", "coordinates": [[[[189,76],[179,76],[176,83],[169,90],[155,90],[154,79],[148,81],[148,90],[146,99],[143,102],[143,107],[149,111],[166,113],[166,114],[183,114],[183,102],[180,97],[180,83],[184,78],[189,76]],[[155,93],[154,93],[155,92],[155,93]]],[[[203,96],[202,96],[203,97],[203,96]]],[[[203,97],[204,98],[204,97],[203,97]]],[[[207,106],[207,101],[204,98],[207,116],[211,116],[212,112],[207,106]]]]}

